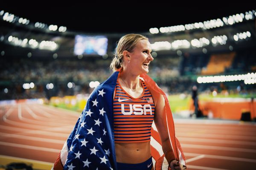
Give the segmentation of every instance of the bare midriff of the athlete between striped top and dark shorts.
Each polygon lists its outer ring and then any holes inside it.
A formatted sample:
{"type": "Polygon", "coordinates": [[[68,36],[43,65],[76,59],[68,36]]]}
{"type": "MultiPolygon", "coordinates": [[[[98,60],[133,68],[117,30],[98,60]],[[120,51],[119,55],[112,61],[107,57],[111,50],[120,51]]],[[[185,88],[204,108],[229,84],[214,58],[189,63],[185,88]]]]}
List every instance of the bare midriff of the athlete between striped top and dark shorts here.
{"type": "Polygon", "coordinates": [[[116,161],[138,164],[151,157],[150,142],[115,143],[116,161]]]}

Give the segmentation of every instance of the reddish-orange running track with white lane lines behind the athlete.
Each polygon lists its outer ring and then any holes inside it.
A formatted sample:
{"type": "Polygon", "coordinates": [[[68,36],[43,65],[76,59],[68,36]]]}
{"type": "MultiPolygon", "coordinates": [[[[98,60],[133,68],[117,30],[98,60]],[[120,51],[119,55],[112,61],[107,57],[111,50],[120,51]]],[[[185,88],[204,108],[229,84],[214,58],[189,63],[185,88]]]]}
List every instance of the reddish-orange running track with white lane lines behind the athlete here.
{"type": "MultiPolygon", "coordinates": [[[[79,115],[47,105],[0,105],[0,162],[12,156],[53,164],[79,115]]],[[[175,129],[189,170],[256,167],[255,123],[175,119],[175,129]]]]}

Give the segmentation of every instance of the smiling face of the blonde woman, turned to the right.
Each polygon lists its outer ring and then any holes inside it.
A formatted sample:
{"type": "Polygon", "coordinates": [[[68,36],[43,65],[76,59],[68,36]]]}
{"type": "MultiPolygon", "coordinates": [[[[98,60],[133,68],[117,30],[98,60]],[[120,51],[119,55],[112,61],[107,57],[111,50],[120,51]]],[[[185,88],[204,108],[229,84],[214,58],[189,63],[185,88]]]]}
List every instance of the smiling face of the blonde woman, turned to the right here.
{"type": "Polygon", "coordinates": [[[128,52],[130,62],[127,64],[127,68],[131,73],[143,74],[148,73],[148,65],[154,59],[151,56],[151,46],[148,40],[140,40],[137,42],[133,51],[128,52]]]}

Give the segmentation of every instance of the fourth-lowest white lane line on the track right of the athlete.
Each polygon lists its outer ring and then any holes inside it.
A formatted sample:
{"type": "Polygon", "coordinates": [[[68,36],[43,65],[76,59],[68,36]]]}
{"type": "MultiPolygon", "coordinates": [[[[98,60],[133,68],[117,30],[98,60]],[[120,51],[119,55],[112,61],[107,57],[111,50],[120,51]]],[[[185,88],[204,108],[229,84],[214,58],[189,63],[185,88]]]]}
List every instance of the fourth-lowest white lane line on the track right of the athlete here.
{"type": "Polygon", "coordinates": [[[213,133],[199,133],[199,132],[180,132],[179,129],[175,130],[177,136],[193,136],[203,138],[214,138],[214,139],[245,139],[245,140],[256,140],[256,136],[245,136],[245,135],[228,135],[228,134],[213,134],[213,133]]]}

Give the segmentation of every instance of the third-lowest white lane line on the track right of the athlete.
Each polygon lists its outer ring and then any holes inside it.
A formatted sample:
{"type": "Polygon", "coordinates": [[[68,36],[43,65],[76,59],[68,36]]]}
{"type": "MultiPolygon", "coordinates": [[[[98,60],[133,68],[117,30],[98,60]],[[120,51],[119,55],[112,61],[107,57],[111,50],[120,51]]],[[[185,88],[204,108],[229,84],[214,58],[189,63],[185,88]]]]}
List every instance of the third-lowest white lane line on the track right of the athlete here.
{"type": "Polygon", "coordinates": [[[207,149],[207,150],[229,150],[235,152],[245,152],[245,153],[256,153],[255,149],[245,149],[238,147],[223,147],[223,146],[211,146],[211,145],[201,145],[201,144],[181,144],[182,147],[186,148],[197,148],[197,149],[207,149]]]}

